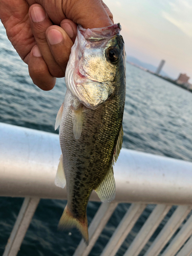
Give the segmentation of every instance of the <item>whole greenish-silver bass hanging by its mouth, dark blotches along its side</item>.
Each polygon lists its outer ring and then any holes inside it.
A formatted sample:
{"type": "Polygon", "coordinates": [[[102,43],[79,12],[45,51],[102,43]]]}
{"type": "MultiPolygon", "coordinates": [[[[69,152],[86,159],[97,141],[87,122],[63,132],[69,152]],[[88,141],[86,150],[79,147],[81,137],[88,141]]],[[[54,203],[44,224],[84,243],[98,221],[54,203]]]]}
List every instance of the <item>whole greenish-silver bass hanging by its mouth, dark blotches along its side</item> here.
{"type": "Polygon", "coordinates": [[[94,189],[115,198],[113,164],[122,145],[125,51],[120,25],[78,26],[66,70],[67,93],[57,114],[62,155],[55,184],[67,183],[68,203],[59,226],[77,227],[88,243],[87,204],[94,189]]]}

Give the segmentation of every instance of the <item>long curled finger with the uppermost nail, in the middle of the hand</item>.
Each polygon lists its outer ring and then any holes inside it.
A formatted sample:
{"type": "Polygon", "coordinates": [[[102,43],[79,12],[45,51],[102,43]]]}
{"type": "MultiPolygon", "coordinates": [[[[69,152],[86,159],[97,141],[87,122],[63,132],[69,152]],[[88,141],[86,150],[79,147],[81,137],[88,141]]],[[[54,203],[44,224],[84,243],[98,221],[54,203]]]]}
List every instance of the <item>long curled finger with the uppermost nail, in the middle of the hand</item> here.
{"type": "Polygon", "coordinates": [[[31,29],[35,37],[36,44],[44,58],[49,72],[54,77],[63,77],[62,69],[58,66],[53,55],[51,54],[48,41],[46,38],[46,30],[52,26],[52,22],[45,10],[38,4],[34,4],[29,9],[29,15],[31,20],[31,29]]]}

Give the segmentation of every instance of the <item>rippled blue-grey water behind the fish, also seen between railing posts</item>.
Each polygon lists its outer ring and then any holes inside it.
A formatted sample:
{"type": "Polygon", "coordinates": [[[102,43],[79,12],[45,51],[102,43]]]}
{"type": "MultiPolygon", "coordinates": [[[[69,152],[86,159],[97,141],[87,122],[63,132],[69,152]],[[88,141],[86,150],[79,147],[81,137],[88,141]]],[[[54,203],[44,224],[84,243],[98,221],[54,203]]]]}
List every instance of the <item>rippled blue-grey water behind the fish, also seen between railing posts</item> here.
{"type": "MultiPolygon", "coordinates": [[[[126,103],[123,147],[192,161],[192,93],[129,64],[126,66],[126,103]]],[[[55,133],[55,117],[65,97],[65,79],[57,79],[49,92],[34,86],[27,65],[20,60],[0,23],[0,122],[55,133]]],[[[56,131],[56,133],[58,133],[56,131]]],[[[0,134],[1,143],[1,134],[0,134]]],[[[15,223],[22,198],[0,198],[0,255],[15,223]]],[[[76,229],[60,232],[57,224],[66,201],[41,200],[18,256],[71,256],[81,240],[76,229]]],[[[88,222],[100,203],[89,202],[88,222]]],[[[90,255],[100,255],[130,204],[120,204],[101,233],[90,255]]],[[[144,210],[117,255],[129,247],[153,210],[144,210]]],[[[173,207],[169,216],[173,214],[173,207]]],[[[168,217],[162,221],[161,227],[168,217]]],[[[158,228],[142,252],[157,236],[158,228]]]]}

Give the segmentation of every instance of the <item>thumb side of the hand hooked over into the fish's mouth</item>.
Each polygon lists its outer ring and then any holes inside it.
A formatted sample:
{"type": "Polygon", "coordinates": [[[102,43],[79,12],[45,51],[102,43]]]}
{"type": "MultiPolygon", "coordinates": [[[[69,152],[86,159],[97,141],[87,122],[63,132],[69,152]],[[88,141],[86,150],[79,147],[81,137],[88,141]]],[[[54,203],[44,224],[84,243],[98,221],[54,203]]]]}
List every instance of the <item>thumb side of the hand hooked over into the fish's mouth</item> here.
{"type": "Polygon", "coordinates": [[[53,24],[59,25],[65,18],[80,24],[83,28],[102,28],[113,24],[113,15],[101,0],[26,0],[32,4],[40,4],[48,13],[53,24]]]}

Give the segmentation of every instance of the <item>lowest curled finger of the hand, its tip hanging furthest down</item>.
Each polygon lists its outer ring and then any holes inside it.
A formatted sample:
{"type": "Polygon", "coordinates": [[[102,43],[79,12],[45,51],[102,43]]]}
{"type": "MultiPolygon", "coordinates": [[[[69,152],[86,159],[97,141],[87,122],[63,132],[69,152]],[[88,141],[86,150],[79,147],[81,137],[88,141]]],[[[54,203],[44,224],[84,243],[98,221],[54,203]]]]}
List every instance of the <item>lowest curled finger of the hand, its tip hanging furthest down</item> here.
{"type": "Polygon", "coordinates": [[[31,50],[28,68],[29,74],[36,86],[44,91],[53,89],[56,78],[50,74],[46,62],[42,58],[41,52],[37,45],[31,50]]]}

